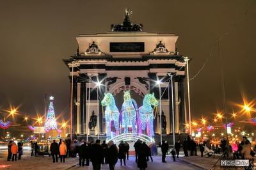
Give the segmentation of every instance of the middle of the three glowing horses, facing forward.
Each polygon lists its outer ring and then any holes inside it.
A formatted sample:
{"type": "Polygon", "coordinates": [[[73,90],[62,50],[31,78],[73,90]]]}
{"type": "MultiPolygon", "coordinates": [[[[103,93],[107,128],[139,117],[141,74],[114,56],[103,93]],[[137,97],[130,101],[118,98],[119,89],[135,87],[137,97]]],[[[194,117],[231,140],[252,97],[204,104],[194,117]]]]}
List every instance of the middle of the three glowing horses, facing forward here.
{"type": "Polygon", "coordinates": [[[135,100],[131,98],[130,91],[124,91],[124,103],[122,105],[122,122],[124,123],[125,134],[128,133],[129,125],[132,125],[132,132],[136,133],[136,109],[138,109],[138,107],[135,100]]]}

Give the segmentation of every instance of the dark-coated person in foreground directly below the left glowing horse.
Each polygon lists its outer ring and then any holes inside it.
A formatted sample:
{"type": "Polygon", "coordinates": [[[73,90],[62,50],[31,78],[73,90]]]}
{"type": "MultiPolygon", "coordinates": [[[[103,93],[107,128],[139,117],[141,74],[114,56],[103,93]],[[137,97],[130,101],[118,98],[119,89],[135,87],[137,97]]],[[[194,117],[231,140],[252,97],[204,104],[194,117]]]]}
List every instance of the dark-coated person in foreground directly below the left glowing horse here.
{"type": "Polygon", "coordinates": [[[118,160],[118,150],[113,141],[108,142],[108,149],[106,150],[106,164],[109,165],[110,170],[115,169],[118,160]]]}

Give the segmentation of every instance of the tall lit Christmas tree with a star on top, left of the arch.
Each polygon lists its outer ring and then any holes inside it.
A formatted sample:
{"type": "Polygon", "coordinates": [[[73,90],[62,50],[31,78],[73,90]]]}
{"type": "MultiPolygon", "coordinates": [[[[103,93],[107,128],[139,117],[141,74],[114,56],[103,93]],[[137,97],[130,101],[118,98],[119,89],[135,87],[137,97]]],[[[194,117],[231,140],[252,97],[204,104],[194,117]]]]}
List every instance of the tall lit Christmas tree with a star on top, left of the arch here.
{"type": "Polygon", "coordinates": [[[47,117],[44,124],[44,128],[46,131],[57,130],[57,122],[55,118],[53,100],[54,100],[54,97],[50,97],[49,109],[47,111],[47,117]]]}

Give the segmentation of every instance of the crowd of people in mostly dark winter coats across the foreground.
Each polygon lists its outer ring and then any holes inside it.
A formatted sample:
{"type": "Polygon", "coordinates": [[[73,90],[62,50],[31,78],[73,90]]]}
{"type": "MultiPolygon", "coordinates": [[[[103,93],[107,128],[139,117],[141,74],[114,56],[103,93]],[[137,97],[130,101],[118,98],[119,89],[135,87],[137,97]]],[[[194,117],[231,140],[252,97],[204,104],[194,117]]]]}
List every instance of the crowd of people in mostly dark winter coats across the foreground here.
{"type": "MultiPolygon", "coordinates": [[[[37,142],[33,143],[33,141],[31,141],[30,144],[31,157],[36,157],[38,155],[38,144],[37,142]]],[[[10,143],[8,143],[7,160],[16,161],[17,155],[18,160],[20,160],[23,155],[22,146],[22,141],[19,141],[17,144],[10,141],[10,143]]],[[[167,141],[163,141],[159,146],[161,147],[162,152],[162,162],[166,163],[169,144],[167,141]]],[[[211,157],[212,154],[220,153],[222,151],[223,157],[233,155],[234,158],[252,158],[256,152],[256,146],[254,146],[252,150],[251,143],[246,137],[243,137],[241,143],[233,141],[232,144],[227,144],[227,140],[223,138],[219,145],[216,144],[214,146],[211,145],[209,139],[196,143],[196,141],[191,139],[188,135],[188,137],[184,139],[183,143],[180,143],[180,140],[175,142],[174,148],[170,151],[173,161],[175,161],[175,155],[179,158],[181,147],[184,151],[184,157],[188,157],[189,155],[197,156],[197,148],[200,150],[201,157],[204,157],[204,155],[211,157]]],[[[53,163],[58,162],[59,159],[60,162],[65,162],[66,157],[77,157],[78,155],[79,166],[90,166],[90,162],[92,162],[93,169],[100,169],[102,164],[108,164],[109,169],[115,169],[118,159],[120,160],[120,166],[123,166],[123,163],[124,166],[126,166],[126,161],[129,160],[129,149],[130,146],[127,142],[121,141],[117,147],[113,141],[109,141],[108,143],[106,143],[106,141],[102,141],[101,143],[99,139],[96,140],[95,143],[86,143],[84,140],[78,143],[76,139],[60,139],[60,142],[56,143],[56,140],[53,140],[49,148],[53,163]]],[[[149,160],[153,162],[151,155],[152,148],[139,139],[134,143],[134,150],[135,162],[137,163],[138,168],[146,169],[147,162],[149,160]]]]}

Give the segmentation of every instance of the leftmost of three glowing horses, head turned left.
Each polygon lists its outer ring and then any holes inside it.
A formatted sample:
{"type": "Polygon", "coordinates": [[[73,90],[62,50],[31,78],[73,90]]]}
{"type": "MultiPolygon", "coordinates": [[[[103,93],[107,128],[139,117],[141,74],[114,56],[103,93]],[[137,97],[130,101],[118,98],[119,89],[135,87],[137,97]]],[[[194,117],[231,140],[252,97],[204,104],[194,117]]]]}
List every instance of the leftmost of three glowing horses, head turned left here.
{"type": "Polygon", "coordinates": [[[115,135],[119,134],[119,111],[116,107],[116,102],[111,93],[105,93],[105,96],[103,100],[101,101],[101,104],[103,106],[106,106],[105,109],[105,120],[106,120],[106,133],[107,133],[107,138],[110,139],[111,137],[111,122],[114,123],[115,125],[115,135]]]}

